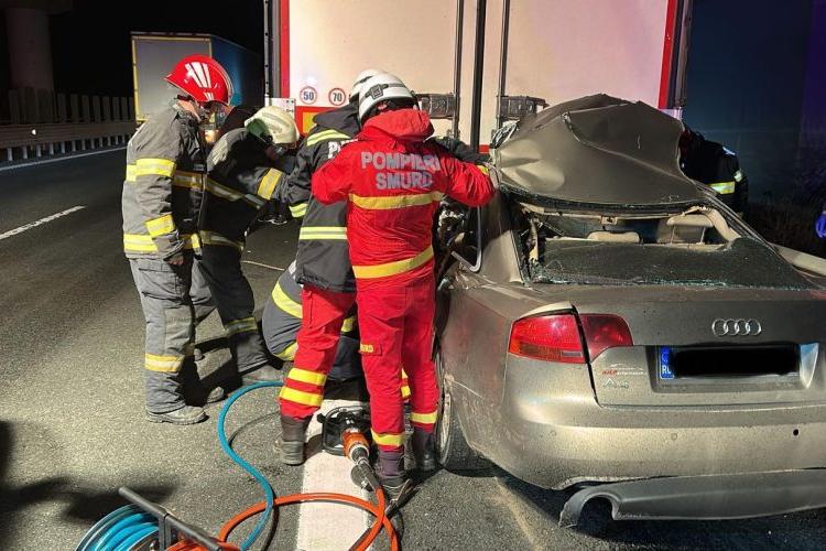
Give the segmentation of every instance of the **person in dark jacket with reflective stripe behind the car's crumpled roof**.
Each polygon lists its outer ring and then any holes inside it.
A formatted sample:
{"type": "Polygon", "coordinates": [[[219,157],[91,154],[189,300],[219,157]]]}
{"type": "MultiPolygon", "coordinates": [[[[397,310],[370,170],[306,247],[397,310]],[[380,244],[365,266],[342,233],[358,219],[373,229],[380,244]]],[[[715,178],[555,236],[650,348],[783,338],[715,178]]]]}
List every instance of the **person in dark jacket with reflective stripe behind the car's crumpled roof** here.
{"type": "Polygon", "coordinates": [[[692,180],[706,184],[740,216],[748,206],[749,181],[733,151],[685,125],[680,138],[680,168],[692,180]]]}

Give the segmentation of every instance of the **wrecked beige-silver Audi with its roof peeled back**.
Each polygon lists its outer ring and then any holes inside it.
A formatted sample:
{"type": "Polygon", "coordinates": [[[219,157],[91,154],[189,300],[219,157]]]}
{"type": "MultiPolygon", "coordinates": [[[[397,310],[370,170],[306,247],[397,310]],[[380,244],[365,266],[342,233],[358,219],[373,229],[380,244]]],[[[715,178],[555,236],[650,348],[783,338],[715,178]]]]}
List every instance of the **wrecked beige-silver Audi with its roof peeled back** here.
{"type": "Polygon", "coordinates": [[[826,506],[826,292],[680,171],[682,129],[591,96],[492,151],[444,244],[445,467],[582,488],[565,525],[826,506]]]}

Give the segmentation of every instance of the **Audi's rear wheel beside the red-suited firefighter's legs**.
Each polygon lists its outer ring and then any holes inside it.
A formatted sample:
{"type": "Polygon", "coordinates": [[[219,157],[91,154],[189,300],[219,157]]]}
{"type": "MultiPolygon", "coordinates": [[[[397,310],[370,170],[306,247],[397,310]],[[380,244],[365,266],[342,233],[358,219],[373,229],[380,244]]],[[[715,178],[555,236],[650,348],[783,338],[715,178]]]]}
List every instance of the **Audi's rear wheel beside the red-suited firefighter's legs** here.
{"type": "Polygon", "coordinates": [[[436,372],[442,388],[442,403],[436,422],[436,456],[448,471],[478,471],[490,466],[487,460],[476,453],[465,440],[456,415],[450,391],[445,383],[442,357],[436,353],[436,372]]]}

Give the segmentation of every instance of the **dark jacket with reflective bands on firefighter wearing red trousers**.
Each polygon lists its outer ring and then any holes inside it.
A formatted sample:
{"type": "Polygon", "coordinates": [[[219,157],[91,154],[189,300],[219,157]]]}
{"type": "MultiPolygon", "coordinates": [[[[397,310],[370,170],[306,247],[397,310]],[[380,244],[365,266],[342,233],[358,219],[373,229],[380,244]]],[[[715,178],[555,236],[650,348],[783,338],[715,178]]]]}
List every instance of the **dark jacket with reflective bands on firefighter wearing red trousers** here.
{"type": "Polygon", "coordinates": [[[324,205],[311,196],[311,177],[359,131],[358,108],[346,105],[315,117],[316,126],[296,155],[282,199],[294,217],[303,216],[298,234],[296,279],[320,289],[354,292],[356,282],[347,247],[346,205],[324,205]]]}

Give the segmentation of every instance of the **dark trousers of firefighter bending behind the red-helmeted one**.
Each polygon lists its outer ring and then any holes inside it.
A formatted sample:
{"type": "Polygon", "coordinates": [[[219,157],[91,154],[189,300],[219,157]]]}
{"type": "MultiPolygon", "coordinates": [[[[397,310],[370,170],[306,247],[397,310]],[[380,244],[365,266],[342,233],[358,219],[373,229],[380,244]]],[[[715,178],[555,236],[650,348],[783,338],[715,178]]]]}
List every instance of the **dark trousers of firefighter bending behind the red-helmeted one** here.
{"type": "Polygon", "coordinates": [[[227,245],[204,245],[200,272],[218,307],[238,371],[254,370],[269,363],[253,311],[252,288],[241,270],[241,251],[227,245]]]}

